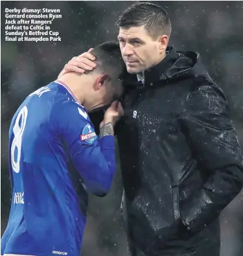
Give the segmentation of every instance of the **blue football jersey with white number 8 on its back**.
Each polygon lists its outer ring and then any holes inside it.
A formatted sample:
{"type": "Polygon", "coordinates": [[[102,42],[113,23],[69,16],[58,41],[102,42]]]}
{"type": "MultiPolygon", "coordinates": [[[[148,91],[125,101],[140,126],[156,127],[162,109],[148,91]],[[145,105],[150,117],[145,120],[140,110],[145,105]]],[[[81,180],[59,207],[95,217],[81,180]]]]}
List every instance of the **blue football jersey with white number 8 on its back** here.
{"type": "Polygon", "coordinates": [[[80,255],[87,193],[104,196],[115,174],[115,142],[98,139],[64,83],[30,94],[9,131],[12,205],[1,254],[80,255]]]}

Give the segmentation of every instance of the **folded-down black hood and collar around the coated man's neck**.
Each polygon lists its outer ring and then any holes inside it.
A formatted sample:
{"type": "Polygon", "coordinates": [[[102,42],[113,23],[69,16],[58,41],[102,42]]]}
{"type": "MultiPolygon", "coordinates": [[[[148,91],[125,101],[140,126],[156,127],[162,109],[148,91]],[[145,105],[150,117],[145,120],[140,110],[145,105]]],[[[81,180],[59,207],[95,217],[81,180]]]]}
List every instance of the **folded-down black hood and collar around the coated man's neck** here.
{"type": "MultiPolygon", "coordinates": [[[[167,56],[151,69],[144,71],[145,86],[154,82],[181,78],[204,77],[212,80],[201,62],[200,54],[193,51],[176,51],[174,47],[167,47],[167,56]]],[[[139,84],[135,75],[125,78],[126,84],[139,84]]]]}

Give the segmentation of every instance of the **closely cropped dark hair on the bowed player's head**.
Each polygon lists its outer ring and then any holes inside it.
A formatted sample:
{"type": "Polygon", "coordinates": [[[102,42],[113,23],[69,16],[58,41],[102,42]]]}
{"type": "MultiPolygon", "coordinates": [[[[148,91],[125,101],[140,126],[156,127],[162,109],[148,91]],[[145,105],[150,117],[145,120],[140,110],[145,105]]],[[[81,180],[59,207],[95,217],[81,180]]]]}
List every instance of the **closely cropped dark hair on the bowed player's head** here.
{"type": "Polygon", "coordinates": [[[95,63],[97,64],[97,67],[95,70],[106,73],[110,75],[111,78],[121,75],[125,68],[119,43],[117,42],[106,41],[95,47],[91,51],[91,54],[96,57],[95,63]]]}

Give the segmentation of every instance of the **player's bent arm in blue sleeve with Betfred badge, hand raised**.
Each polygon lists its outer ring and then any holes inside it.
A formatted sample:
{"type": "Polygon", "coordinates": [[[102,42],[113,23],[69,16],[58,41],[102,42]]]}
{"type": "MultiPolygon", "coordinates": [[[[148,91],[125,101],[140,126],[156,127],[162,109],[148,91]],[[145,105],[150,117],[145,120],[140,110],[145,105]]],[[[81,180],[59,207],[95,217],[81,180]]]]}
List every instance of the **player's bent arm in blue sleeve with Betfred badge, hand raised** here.
{"type": "Polygon", "coordinates": [[[110,190],[116,170],[115,139],[113,126],[122,115],[114,104],[106,111],[105,119],[100,124],[100,136],[95,134],[93,124],[81,115],[78,106],[62,111],[59,119],[61,137],[69,151],[76,170],[80,173],[87,191],[105,196],[110,190]],[[79,109],[79,110],[78,110],[79,109]],[[74,113],[75,111],[75,113],[74,113]]]}

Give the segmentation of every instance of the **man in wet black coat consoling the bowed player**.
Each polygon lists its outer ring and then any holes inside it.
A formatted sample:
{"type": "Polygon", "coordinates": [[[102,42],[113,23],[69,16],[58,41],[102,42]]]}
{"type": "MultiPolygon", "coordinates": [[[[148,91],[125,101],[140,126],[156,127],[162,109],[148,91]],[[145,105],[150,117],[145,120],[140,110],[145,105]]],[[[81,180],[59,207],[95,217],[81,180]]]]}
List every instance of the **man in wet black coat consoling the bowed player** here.
{"type": "MultiPolygon", "coordinates": [[[[168,47],[170,19],[160,6],[135,4],[117,25],[130,74],[117,127],[130,255],[219,256],[218,217],[243,186],[224,93],[200,54],[168,47]]],[[[85,52],[62,73],[91,69],[91,60],[85,52]]]]}

